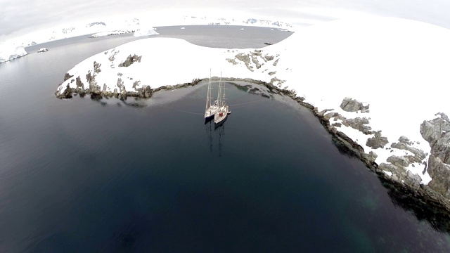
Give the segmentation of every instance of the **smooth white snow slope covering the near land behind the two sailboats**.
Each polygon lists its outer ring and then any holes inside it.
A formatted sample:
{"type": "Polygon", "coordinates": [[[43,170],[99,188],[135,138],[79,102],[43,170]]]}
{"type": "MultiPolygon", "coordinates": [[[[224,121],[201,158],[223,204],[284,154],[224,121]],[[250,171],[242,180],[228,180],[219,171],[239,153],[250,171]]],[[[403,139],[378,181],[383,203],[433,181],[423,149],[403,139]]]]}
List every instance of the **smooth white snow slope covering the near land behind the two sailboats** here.
{"type": "MultiPolygon", "coordinates": [[[[143,39],[79,63],[69,71],[74,77],[61,84],[56,95],[67,85],[75,88],[77,77],[84,89],[89,89],[86,74],[94,73],[94,61],[101,63],[101,72],[94,74],[96,83],[110,92],[120,91],[122,84],[126,91],[136,91],[146,85],[155,89],[191,82],[207,77],[207,70],[212,68],[216,76],[221,71],[224,77],[252,78],[294,90],[319,111],[332,109],[347,118],[367,117],[369,126],[387,137],[385,147],[406,136],[414,148],[429,154],[430,145],[419,129],[424,120],[435,118],[435,113],[450,113],[448,45],[450,30],[442,27],[373,17],[304,27],[288,39],[259,50],[205,48],[181,39],[143,39]],[[141,60],[120,67],[127,56],[134,54],[141,60]],[[347,97],[370,104],[370,112],[345,112],[340,103],[347,97]]],[[[378,164],[387,162],[390,155],[408,153],[372,149],[366,141],[373,135],[346,126],[338,130],[364,147],[366,153],[376,153],[378,164]]],[[[422,183],[430,181],[420,164],[408,169],[418,174],[422,183]]]]}

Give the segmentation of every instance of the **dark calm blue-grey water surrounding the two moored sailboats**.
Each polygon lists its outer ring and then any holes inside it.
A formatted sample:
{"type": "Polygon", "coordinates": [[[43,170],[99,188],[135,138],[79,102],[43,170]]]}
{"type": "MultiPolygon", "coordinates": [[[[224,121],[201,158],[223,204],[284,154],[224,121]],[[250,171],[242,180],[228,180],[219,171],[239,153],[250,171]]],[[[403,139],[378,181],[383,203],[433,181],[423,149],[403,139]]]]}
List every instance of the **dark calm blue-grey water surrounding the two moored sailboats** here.
{"type": "MultiPolygon", "coordinates": [[[[167,36],[214,46],[212,33],[243,32],[200,28],[167,36]]],[[[244,28],[240,47],[288,36],[244,28]]],[[[56,41],[0,65],[0,252],[449,252],[448,234],[394,205],[288,99],[226,84],[232,114],[214,129],[205,84],[150,100],[53,95],[73,65],[133,39],[56,41]]]]}

